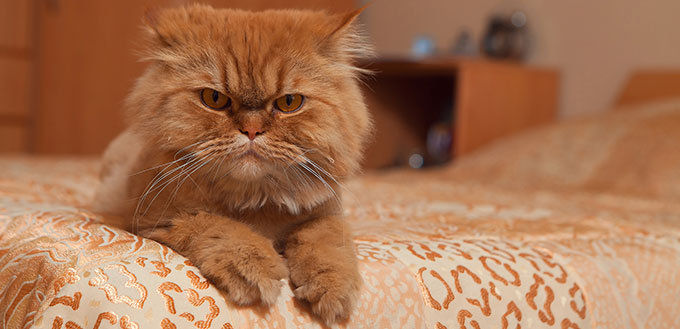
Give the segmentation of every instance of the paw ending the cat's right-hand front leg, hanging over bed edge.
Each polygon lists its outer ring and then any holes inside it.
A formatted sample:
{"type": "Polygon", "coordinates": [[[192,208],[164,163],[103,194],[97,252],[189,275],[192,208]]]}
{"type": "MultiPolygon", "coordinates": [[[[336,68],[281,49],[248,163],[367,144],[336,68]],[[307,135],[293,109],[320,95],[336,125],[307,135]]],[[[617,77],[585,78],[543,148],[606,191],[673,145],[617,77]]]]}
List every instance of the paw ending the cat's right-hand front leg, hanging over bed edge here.
{"type": "Polygon", "coordinates": [[[355,268],[296,272],[291,272],[295,297],[309,302],[315,315],[329,325],[349,317],[361,287],[361,277],[355,268]]]}

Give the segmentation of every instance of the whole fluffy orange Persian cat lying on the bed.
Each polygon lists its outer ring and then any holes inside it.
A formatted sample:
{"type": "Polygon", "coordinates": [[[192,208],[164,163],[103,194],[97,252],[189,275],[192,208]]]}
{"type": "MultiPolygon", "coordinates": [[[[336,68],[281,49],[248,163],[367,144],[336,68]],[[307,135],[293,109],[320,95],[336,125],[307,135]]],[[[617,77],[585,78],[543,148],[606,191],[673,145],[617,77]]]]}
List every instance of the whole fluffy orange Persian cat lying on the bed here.
{"type": "Polygon", "coordinates": [[[238,304],[274,303],[290,277],[324,321],[346,318],[361,277],[339,180],[359,169],[371,127],[357,15],[149,15],[150,66],[105,154],[96,207],[186,256],[238,304]]]}

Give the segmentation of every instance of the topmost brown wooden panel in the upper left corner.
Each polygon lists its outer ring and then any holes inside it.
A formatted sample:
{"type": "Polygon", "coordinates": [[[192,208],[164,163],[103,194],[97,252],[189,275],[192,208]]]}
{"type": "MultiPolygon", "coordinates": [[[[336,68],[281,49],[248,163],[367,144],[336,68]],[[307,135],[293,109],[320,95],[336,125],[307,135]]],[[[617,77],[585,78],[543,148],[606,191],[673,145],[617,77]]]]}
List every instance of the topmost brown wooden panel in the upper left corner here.
{"type": "Polygon", "coordinates": [[[0,0],[0,53],[29,48],[32,3],[31,0],[0,0]]]}

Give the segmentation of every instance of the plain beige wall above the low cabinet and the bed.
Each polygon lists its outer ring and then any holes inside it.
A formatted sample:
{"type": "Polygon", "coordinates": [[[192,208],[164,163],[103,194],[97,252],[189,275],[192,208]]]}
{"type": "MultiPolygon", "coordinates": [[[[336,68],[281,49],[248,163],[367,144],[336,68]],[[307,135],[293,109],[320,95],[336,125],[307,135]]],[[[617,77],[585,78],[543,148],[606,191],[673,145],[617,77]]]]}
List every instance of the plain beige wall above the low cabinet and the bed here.
{"type": "Polygon", "coordinates": [[[678,0],[372,0],[362,19],[382,55],[407,55],[416,35],[449,49],[461,28],[519,8],[535,46],[529,62],[559,68],[564,116],[606,109],[637,68],[680,69],[678,0]]]}

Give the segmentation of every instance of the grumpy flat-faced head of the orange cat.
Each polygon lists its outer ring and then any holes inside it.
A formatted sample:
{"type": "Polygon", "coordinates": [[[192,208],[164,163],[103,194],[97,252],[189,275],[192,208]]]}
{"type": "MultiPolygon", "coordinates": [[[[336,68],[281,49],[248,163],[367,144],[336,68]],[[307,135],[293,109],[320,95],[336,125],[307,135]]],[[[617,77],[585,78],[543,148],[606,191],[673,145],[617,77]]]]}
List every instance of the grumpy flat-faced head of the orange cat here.
{"type": "Polygon", "coordinates": [[[320,203],[358,170],[371,130],[354,66],[370,53],[357,15],[201,5],[147,15],[151,65],[128,99],[129,122],[228,189],[320,203]]]}

